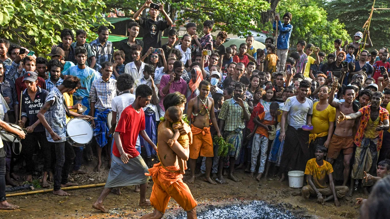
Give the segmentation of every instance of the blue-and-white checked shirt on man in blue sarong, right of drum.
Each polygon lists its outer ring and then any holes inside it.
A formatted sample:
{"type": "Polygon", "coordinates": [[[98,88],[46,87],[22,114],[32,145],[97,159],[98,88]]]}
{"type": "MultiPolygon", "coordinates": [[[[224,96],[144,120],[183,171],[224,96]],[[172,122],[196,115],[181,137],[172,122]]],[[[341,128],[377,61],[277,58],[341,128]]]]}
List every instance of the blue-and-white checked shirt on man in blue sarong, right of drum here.
{"type": "Polygon", "coordinates": [[[95,109],[103,112],[106,109],[111,109],[112,98],[117,95],[117,80],[112,78],[107,82],[99,78],[92,82],[89,98],[91,102],[96,103],[95,109]]]}

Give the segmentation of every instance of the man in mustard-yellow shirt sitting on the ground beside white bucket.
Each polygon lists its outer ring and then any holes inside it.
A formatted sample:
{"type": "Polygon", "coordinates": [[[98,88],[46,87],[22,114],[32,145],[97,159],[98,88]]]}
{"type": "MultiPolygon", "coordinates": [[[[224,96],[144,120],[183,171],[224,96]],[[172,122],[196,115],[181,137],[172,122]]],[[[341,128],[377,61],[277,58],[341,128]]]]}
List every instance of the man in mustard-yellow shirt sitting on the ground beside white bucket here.
{"type": "Polygon", "coordinates": [[[307,186],[303,186],[302,195],[303,198],[310,198],[310,194],[317,194],[317,201],[321,205],[324,205],[325,201],[335,200],[335,205],[340,206],[340,202],[337,198],[344,197],[348,192],[348,186],[335,186],[333,183],[333,167],[324,160],[326,156],[326,147],[318,145],[315,149],[314,155],[316,158],[312,158],[307,161],[305,175],[307,177],[307,186]],[[326,175],[329,177],[329,185],[326,184],[326,175]],[[323,195],[328,195],[327,198],[323,198],[323,195]]]}

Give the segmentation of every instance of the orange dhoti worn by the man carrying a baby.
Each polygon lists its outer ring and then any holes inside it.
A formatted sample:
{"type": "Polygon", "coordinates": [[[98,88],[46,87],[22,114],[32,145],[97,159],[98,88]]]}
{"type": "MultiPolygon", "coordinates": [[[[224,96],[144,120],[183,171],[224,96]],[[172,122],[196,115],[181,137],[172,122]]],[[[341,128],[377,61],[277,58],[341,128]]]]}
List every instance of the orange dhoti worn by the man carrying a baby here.
{"type": "MultiPolygon", "coordinates": [[[[165,167],[170,171],[179,170],[179,166],[165,167]]],[[[160,163],[149,169],[154,185],[150,196],[151,205],[164,214],[168,202],[172,197],[185,211],[190,211],[197,206],[190,189],[183,182],[183,175],[166,170],[160,163]]]]}

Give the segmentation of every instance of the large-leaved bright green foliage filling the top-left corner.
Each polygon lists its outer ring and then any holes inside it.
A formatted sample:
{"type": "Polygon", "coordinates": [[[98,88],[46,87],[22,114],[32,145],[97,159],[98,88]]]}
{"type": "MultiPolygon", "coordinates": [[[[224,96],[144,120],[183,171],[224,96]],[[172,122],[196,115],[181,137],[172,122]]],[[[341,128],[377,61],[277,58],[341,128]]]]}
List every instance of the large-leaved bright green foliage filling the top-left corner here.
{"type": "Polygon", "coordinates": [[[53,44],[61,42],[60,32],[74,32],[107,25],[102,18],[104,2],[99,0],[3,0],[0,3],[1,37],[33,49],[35,54],[50,52],[53,44]]]}

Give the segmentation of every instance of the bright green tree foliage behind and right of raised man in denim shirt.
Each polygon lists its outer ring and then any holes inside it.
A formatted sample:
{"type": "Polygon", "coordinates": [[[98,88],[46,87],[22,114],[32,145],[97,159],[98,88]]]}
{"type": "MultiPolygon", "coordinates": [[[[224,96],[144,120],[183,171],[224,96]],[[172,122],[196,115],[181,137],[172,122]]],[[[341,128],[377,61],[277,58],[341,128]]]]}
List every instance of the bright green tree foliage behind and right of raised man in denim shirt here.
{"type": "MultiPolygon", "coordinates": [[[[328,21],[327,12],[316,4],[316,1],[281,0],[277,11],[283,16],[285,12],[293,14],[293,32],[291,33],[290,47],[296,48],[298,40],[318,46],[321,51],[334,51],[334,40],[350,40],[344,25],[338,19],[328,21]]],[[[282,17],[280,18],[282,20],[282,17]]]]}

